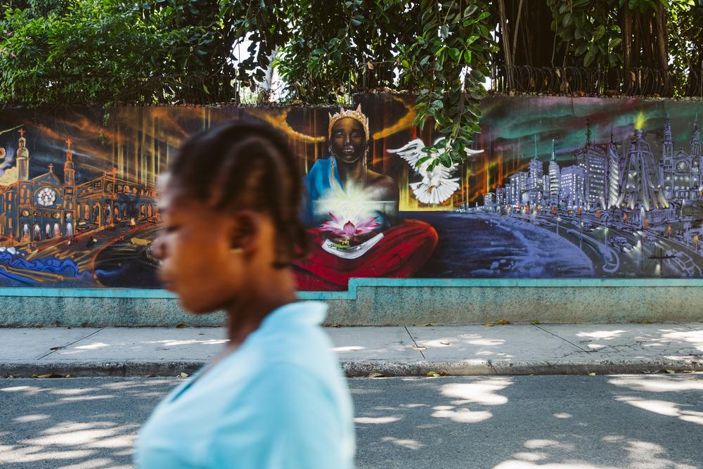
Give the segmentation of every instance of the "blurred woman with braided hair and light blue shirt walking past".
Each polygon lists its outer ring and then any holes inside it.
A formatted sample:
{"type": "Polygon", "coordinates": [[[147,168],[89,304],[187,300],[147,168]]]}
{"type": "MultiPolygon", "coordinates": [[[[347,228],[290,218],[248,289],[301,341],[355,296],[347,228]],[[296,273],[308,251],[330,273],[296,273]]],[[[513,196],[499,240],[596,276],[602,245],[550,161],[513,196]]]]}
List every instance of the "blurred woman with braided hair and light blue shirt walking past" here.
{"type": "Polygon", "coordinates": [[[160,278],[191,313],[226,311],[229,342],[157,406],[138,468],[352,468],[352,404],[319,327],[325,304],[295,297],[301,190],[288,147],[254,124],[195,136],[172,160],[160,278]]]}

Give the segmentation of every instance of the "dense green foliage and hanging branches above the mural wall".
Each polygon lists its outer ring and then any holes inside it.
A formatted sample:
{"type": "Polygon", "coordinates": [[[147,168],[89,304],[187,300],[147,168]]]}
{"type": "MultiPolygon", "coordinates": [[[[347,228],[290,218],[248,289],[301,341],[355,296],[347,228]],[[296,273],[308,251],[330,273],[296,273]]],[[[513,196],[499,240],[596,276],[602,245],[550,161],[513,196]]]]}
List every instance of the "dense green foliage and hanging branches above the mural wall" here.
{"type": "Polygon", "coordinates": [[[702,0],[527,4],[0,0],[0,102],[240,102],[248,90],[261,103],[272,99],[276,68],[284,102],[335,103],[370,88],[416,93],[416,122],[448,137],[440,154],[449,165],[478,131],[495,70],[657,68],[682,77],[680,89],[702,76],[702,0]]]}

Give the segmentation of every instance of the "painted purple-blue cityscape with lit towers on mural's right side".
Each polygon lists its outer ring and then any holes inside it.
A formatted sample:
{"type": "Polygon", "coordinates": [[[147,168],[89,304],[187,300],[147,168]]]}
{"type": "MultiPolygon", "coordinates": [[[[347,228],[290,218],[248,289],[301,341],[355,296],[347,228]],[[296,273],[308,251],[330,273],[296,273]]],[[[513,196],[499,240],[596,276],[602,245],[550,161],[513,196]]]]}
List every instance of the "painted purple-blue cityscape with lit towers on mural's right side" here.
{"type": "MultiPolygon", "coordinates": [[[[647,120],[634,114],[631,127],[600,125],[596,141],[586,117],[583,144],[557,160],[557,140],[540,158],[525,142],[524,170],[507,174],[460,212],[499,229],[540,233],[540,245],[580,266],[579,276],[701,277],[703,265],[703,165],[697,113],[679,116],[674,141],[671,113],[647,120]],[[646,122],[646,124],[645,124],[646,122]],[[659,129],[650,127],[654,122],[659,129]],[[683,123],[683,125],[681,125],[683,123]],[[603,132],[605,130],[605,132],[603,132]],[[610,131],[608,131],[610,130],[610,131]],[[688,131],[688,135],[686,135],[688,131]],[[647,134],[654,139],[647,139],[647,134]]],[[[529,244],[529,243],[527,243],[529,244]]],[[[536,257],[526,270],[535,272],[536,257]]],[[[501,259],[486,276],[502,276],[513,264],[501,259]],[[493,271],[493,272],[491,272],[493,271]]],[[[528,274],[529,275],[529,274],[528,274]]]]}

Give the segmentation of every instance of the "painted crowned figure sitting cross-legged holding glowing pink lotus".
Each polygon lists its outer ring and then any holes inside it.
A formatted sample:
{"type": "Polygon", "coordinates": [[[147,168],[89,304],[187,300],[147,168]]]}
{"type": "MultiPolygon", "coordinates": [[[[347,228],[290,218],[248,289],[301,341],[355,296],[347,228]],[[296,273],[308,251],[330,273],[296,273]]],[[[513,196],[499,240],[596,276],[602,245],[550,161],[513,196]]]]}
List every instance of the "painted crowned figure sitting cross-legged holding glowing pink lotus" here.
{"type": "Polygon", "coordinates": [[[347,290],[355,277],[412,276],[434,252],[437,231],[400,219],[396,181],[368,168],[369,139],[361,105],[330,115],[328,157],[304,178],[311,253],[295,263],[300,290],[347,290]]]}

